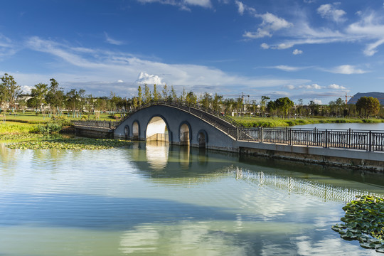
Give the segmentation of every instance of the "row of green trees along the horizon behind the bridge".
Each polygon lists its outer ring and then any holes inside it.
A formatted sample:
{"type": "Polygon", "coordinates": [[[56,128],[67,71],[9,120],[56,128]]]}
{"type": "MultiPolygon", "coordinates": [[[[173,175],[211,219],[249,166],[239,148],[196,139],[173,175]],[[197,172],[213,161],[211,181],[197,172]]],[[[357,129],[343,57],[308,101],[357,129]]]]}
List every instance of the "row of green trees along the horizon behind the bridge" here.
{"type": "Polygon", "coordinates": [[[31,89],[31,95],[23,95],[20,85],[12,75],[7,73],[1,77],[0,84],[0,106],[2,110],[26,110],[33,108],[36,111],[48,110],[55,114],[62,110],[73,112],[129,112],[146,103],[157,100],[181,101],[188,104],[203,105],[223,114],[252,115],[257,117],[384,117],[383,107],[380,107],[378,99],[373,97],[361,97],[356,105],[348,104],[338,98],[329,102],[329,105],[319,105],[313,100],[309,105],[299,104],[288,97],[281,97],[277,100],[270,100],[270,97],[262,96],[260,101],[252,102],[244,97],[224,98],[217,92],[211,94],[204,92],[196,95],[194,92],[186,92],[183,88],[181,95],[177,95],[174,87],[164,85],[160,90],[153,85],[139,85],[137,96],[127,98],[119,97],[110,92],[109,96],[93,97],[86,95],[85,90],[71,89],[64,92],[59,83],[50,79],[50,84],[38,83],[31,89]]]}

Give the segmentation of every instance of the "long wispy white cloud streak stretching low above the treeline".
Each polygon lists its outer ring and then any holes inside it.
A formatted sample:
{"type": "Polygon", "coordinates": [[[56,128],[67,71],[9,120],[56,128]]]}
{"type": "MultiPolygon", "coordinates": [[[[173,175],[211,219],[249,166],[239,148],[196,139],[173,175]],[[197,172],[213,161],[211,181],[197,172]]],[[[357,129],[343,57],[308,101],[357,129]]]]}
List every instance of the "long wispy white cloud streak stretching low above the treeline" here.
{"type": "Polygon", "coordinates": [[[103,49],[82,48],[79,50],[77,47],[70,46],[68,42],[58,43],[36,36],[29,38],[25,45],[33,51],[50,55],[52,59],[47,60],[46,63],[50,69],[57,66],[60,70],[73,71],[71,71],[72,73],[50,73],[47,78],[44,75],[34,77],[30,74],[16,74],[18,83],[24,85],[33,85],[33,82],[55,78],[60,85],[66,88],[83,87],[87,91],[93,90],[102,93],[106,87],[111,87],[108,90],[123,92],[129,90],[129,87],[134,87],[134,81],[138,80],[137,74],[140,72],[157,74],[160,79],[145,82],[158,84],[166,82],[168,85],[174,85],[176,90],[186,87],[186,90],[194,90],[196,93],[215,91],[218,90],[218,86],[223,94],[225,92],[233,94],[239,86],[244,90],[255,90],[256,87],[281,87],[309,82],[302,79],[263,79],[233,75],[204,65],[161,63],[103,49]],[[126,82],[119,82],[116,78],[126,82]]]}

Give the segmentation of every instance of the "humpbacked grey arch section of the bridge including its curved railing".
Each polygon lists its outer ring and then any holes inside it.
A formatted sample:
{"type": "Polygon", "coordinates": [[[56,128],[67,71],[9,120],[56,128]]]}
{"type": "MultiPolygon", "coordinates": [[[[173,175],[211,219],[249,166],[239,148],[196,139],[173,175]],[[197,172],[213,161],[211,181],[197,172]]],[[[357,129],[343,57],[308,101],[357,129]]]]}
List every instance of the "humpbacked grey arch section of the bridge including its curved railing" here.
{"type": "Polygon", "coordinates": [[[154,134],[168,133],[166,143],[238,151],[233,137],[234,122],[213,110],[183,102],[150,102],[123,119],[114,129],[114,137],[124,138],[124,126],[129,125],[130,139],[149,140],[147,137],[154,134]],[[152,127],[160,121],[162,124],[156,129],[152,127]]]}

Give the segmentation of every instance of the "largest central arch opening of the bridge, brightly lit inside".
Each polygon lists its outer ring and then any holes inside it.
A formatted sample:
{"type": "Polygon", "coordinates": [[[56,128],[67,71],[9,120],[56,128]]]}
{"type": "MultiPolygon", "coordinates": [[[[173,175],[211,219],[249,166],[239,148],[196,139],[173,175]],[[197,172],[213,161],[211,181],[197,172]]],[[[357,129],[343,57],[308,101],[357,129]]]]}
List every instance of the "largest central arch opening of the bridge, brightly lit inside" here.
{"type": "Polygon", "coordinates": [[[161,114],[155,114],[146,124],[146,141],[171,142],[169,134],[169,125],[161,114]]]}

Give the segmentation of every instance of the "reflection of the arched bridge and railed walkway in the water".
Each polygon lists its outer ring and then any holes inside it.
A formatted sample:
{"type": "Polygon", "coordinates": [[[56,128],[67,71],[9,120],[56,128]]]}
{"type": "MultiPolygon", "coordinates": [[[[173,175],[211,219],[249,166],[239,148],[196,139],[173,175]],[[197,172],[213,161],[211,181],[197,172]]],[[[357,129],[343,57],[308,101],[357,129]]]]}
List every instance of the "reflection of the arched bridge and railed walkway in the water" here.
{"type": "Polygon", "coordinates": [[[304,193],[324,201],[351,201],[356,195],[383,195],[384,178],[346,168],[302,164],[295,161],[271,160],[256,156],[238,156],[228,152],[199,150],[164,142],[135,142],[145,150],[137,151],[132,160],[141,174],[164,178],[156,182],[209,182],[201,176],[233,175],[236,179],[259,186],[280,188],[289,193],[304,193]],[[144,146],[145,145],[145,146],[144,146]],[[143,161],[145,159],[145,161],[143,161]],[[352,181],[352,182],[351,182],[352,181]],[[369,187],[369,191],[367,188],[369,187]]]}

